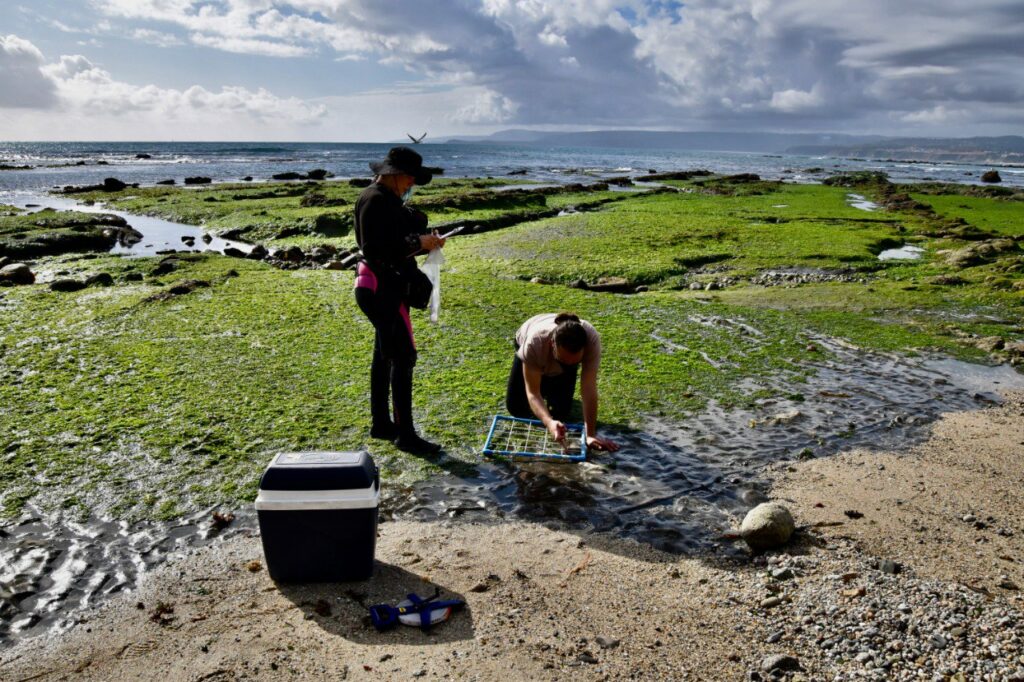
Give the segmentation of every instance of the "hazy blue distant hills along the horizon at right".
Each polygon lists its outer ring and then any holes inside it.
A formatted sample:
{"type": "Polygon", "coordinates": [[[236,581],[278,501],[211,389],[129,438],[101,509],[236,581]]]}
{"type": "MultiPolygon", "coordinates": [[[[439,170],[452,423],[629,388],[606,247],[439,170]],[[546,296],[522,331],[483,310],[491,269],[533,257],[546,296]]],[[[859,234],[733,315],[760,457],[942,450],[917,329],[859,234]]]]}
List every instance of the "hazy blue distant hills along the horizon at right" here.
{"type": "Polygon", "coordinates": [[[502,130],[490,135],[451,137],[450,144],[530,144],[693,152],[760,152],[805,156],[1024,163],[1024,137],[885,137],[833,133],[676,132],[652,130],[595,130],[546,132],[502,130]]]}

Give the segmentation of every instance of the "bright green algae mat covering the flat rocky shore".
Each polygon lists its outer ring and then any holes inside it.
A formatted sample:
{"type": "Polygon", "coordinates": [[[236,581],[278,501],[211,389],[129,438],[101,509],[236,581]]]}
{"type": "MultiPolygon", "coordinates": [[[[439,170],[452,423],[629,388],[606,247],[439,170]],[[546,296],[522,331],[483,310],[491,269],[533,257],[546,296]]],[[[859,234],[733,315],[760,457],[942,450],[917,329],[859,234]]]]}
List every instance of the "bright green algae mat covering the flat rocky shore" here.
{"type": "MultiPolygon", "coordinates": [[[[503,199],[498,184],[450,180],[416,200],[433,224],[495,221],[445,247],[440,323],[414,314],[417,418],[444,455],[369,439],[373,333],[350,272],[187,254],[154,274],[158,259],[47,256],[33,264],[42,284],[0,289],[3,515],[27,503],[130,519],[238,506],[281,450],[369,447],[396,482],[470,472],[487,417],[503,407],[512,335],[542,311],[573,310],[602,334],[600,423],[612,430],[766,397],[749,388],[759,377],[782,377],[785,394],[798,394],[826,352],[814,343],[821,335],[979,360],[989,350],[1009,358],[1001,349],[1024,339],[1019,197],[948,188],[913,195],[928,210],[864,211],[842,186],[712,180],[674,183],[680,193],[503,199]],[[984,236],[961,239],[951,224],[984,236]],[[979,246],[997,240],[998,249],[979,246]],[[902,244],[923,257],[879,260],[902,244]],[[950,264],[963,249],[977,258],[950,264]],[[796,279],[756,284],[775,271],[796,279]],[[95,272],[116,284],[75,293],[45,284],[95,272]],[[589,290],[609,279],[640,293],[589,290]],[[203,286],[175,288],[186,282],[203,286]]],[[[892,194],[853,190],[880,202],[892,194]]],[[[94,199],[241,229],[269,247],[350,246],[357,191],[324,183],[323,199],[308,200],[303,185],[214,185],[94,199]]],[[[4,220],[0,239],[31,231],[31,215],[4,220]]]]}

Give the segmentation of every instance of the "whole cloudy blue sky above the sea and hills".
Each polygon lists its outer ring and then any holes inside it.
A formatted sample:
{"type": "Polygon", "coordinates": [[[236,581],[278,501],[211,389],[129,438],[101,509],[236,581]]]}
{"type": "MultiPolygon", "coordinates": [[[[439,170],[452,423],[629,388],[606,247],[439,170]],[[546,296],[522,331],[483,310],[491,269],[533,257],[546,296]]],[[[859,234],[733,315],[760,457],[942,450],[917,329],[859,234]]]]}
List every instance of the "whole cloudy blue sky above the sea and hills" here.
{"type": "Polygon", "coordinates": [[[0,0],[0,139],[1024,134],[1024,0],[0,0]]]}

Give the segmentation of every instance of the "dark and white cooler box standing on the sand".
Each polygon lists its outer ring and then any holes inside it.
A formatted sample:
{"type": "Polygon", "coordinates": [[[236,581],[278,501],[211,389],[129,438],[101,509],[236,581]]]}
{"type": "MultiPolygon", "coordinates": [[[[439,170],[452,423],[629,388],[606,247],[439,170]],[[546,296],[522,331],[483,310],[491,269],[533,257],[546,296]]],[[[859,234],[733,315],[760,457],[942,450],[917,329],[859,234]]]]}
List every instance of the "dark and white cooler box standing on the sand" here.
{"type": "Polygon", "coordinates": [[[281,453],[259,488],[270,578],[335,583],[373,574],[380,476],[368,453],[281,453]]]}

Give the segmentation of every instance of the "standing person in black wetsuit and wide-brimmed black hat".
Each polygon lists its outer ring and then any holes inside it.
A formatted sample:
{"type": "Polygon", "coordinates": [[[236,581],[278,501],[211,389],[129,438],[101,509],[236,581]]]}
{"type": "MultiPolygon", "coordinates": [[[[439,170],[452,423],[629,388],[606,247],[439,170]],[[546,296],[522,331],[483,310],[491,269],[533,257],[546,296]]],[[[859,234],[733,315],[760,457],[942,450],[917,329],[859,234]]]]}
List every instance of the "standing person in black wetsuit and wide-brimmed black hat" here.
{"type": "Polygon", "coordinates": [[[374,438],[393,440],[398,450],[430,455],[440,445],[421,438],[413,426],[413,368],[416,342],[409,317],[408,283],[414,256],[444,246],[427,231],[427,216],[406,206],[413,187],[430,182],[432,169],[406,146],[371,163],[374,182],[355,202],[355,241],[362,251],[355,278],[355,301],[374,326],[370,367],[370,414],[374,438]],[[388,393],[391,409],[388,406],[388,393]]]}

